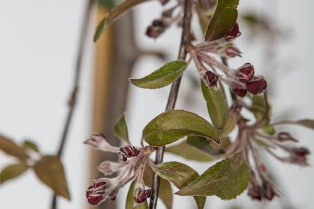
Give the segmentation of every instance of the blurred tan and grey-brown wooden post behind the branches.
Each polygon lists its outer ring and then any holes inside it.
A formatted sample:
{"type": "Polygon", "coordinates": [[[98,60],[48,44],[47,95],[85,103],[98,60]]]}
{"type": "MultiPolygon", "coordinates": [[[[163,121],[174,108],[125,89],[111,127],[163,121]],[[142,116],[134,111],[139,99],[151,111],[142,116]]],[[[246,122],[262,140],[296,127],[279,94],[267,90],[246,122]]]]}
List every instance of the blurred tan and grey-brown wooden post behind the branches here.
{"type": "MultiPolygon", "coordinates": [[[[99,8],[97,23],[106,12],[105,8],[99,8]]],[[[96,44],[92,132],[104,133],[107,141],[115,146],[119,146],[120,140],[114,137],[112,128],[125,111],[135,54],[132,13],[128,12],[106,28],[105,34],[96,44]]],[[[112,153],[91,152],[89,180],[100,176],[96,166],[105,160],[117,161],[118,158],[112,153]]],[[[107,200],[98,209],[115,209],[115,203],[116,201],[107,200]]]]}

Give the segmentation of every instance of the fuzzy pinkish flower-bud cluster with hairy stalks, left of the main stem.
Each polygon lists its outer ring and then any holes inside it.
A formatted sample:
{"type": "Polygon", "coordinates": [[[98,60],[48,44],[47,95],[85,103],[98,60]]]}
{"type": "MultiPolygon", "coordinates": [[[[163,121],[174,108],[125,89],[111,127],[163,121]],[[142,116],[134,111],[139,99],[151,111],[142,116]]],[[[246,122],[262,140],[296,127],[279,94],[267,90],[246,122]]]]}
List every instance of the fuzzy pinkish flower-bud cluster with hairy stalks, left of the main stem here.
{"type": "Polygon", "coordinates": [[[121,161],[120,163],[105,161],[97,167],[104,176],[118,171],[120,173],[114,178],[98,177],[93,180],[93,185],[86,190],[89,204],[98,205],[106,199],[115,200],[119,189],[132,180],[137,182],[134,188],[134,206],[151,197],[151,190],[145,189],[143,184],[143,174],[146,164],[151,161],[150,155],[154,151],[152,147],[135,147],[131,144],[114,147],[105,140],[103,134],[93,134],[84,143],[104,152],[117,153],[121,161]]]}

